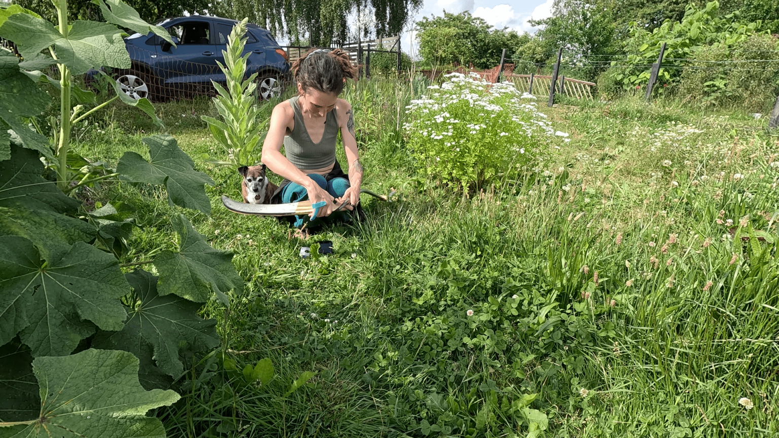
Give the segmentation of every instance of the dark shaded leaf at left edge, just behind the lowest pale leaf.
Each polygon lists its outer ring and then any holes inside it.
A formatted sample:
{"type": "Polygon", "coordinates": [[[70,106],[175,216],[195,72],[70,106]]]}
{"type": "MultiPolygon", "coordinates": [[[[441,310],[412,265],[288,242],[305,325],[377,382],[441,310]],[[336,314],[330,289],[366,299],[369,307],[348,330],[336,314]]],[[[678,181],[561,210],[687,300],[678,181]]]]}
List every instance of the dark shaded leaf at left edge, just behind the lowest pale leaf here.
{"type": "Polygon", "coordinates": [[[19,341],[0,347],[0,422],[32,419],[41,408],[30,348],[19,341]]]}

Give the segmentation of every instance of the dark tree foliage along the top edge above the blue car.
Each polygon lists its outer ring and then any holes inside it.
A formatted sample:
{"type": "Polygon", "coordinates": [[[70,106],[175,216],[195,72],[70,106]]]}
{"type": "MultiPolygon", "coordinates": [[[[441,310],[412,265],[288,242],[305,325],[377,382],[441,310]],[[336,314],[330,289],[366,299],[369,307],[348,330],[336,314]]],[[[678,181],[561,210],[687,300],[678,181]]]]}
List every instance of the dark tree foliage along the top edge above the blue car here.
{"type": "MultiPolygon", "coordinates": [[[[37,12],[43,19],[57,22],[57,9],[51,0],[13,0],[14,4],[22,6],[37,12]]],[[[185,0],[177,2],[174,0],[129,0],[128,5],[132,6],[138,12],[138,15],[148,21],[156,22],[160,19],[182,16],[184,12],[205,13],[209,7],[207,0],[185,0]]],[[[100,21],[103,16],[100,15],[100,7],[92,0],[69,0],[68,19],[89,19],[100,21]]]]}

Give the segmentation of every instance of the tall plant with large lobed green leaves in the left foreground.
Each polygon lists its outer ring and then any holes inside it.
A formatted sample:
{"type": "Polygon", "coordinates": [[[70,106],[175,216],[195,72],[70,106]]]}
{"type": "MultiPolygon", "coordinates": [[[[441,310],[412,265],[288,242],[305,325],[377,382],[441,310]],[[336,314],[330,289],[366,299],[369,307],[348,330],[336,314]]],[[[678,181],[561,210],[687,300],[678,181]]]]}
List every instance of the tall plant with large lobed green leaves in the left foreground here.
{"type": "Polygon", "coordinates": [[[182,357],[220,345],[215,320],[198,310],[214,297],[227,305],[225,294],[243,287],[232,254],[208,245],[183,214],[171,217],[174,251],[124,266],[151,264],[155,274],[125,274],[119,259],[136,227],[128,206],[89,211],[68,196],[113,178],[164,185],[171,204],[210,214],[204,184],[213,181],[169,135],[143,139],[149,161],[126,152],[111,170],[69,151],[73,125],[117,99],[161,125],[149,101],[118,86],[102,104],[74,86],[90,69],[130,66],[115,25],[170,39],[121,0],[94,3],[110,23],[67,23],[65,0],[55,2],[58,26],[0,9],[0,37],[20,55],[0,48],[0,436],[164,436],[146,412],[179,395],[159,388],[185,373],[182,357]],[[58,79],[41,72],[51,65],[58,79]],[[60,97],[48,126],[43,83],[60,97]]]}

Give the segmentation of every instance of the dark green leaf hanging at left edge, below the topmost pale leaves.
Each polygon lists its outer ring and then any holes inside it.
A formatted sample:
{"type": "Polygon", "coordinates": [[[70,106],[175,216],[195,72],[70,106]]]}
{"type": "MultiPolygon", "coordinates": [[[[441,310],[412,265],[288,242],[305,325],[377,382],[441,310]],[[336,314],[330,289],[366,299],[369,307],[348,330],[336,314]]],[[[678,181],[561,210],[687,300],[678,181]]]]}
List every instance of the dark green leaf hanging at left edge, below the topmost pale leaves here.
{"type": "MultiPolygon", "coordinates": [[[[26,15],[16,14],[16,16],[26,15]]],[[[19,70],[19,58],[9,51],[0,50],[0,119],[8,123],[25,147],[38,150],[47,157],[53,157],[48,147],[48,139],[31,131],[21,121],[23,117],[40,115],[49,103],[51,97],[37,87],[33,79],[19,70]]],[[[2,141],[0,141],[0,151],[2,151],[2,141]]]]}

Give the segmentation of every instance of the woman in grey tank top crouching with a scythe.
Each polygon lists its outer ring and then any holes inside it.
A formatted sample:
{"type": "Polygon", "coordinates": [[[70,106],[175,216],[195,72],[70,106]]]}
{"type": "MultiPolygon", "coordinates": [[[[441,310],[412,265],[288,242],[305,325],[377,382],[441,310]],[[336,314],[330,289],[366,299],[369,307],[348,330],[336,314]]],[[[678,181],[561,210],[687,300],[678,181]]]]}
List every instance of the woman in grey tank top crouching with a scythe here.
{"type": "MultiPolygon", "coordinates": [[[[298,95],[277,104],[270,116],[270,128],[263,143],[262,161],[284,177],[273,194],[273,202],[293,203],[311,200],[326,202],[309,217],[326,217],[343,207],[354,210],[360,202],[362,166],[354,136],[351,105],[338,95],[346,79],[356,79],[357,71],[349,55],[340,49],[318,49],[294,62],[294,83],[298,95]],[[349,164],[344,175],[336,161],[336,140],[340,130],[349,164]],[[286,138],[285,138],[286,136],[286,138]],[[284,145],[286,157],[281,154],[284,145]]],[[[297,216],[301,228],[305,216],[297,216]]]]}

